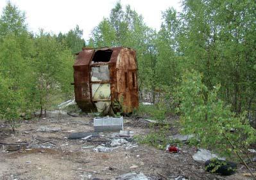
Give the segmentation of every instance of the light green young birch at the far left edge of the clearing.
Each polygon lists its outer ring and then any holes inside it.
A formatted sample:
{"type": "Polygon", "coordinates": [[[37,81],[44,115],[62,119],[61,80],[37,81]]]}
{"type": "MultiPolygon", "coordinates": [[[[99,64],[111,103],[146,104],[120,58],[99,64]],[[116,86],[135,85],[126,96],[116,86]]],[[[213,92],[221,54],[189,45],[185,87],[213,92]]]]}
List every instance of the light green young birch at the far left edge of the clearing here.
{"type": "MultiPolygon", "coordinates": [[[[1,26],[0,26],[1,27],[1,26]]],[[[10,29],[9,29],[10,30],[10,29]]],[[[2,31],[3,32],[3,31],[2,31]]],[[[2,36],[0,43],[0,119],[7,120],[12,130],[17,120],[26,112],[26,82],[29,71],[26,68],[26,56],[22,54],[21,41],[13,33],[2,36]]]]}

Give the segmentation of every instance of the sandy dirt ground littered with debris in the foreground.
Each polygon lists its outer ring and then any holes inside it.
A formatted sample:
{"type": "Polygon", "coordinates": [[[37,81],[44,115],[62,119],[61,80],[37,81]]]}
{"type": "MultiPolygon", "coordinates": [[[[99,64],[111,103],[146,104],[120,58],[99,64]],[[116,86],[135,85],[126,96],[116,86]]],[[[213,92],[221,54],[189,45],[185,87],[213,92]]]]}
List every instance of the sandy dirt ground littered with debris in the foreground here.
{"type": "MultiPolygon", "coordinates": [[[[204,165],[192,159],[196,147],[184,145],[175,154],[132,141],[132,147],[124,144],[113,148],[113,132],[90,140],[67,139],[71,133],[94,131],[91,116],[49,114],[22,121],[15,133],[9,129],[4,123],[0,126],[0,179],[116,179],[129,172],[142,173],[148,179],[246,179],[243,165],[232,176],[205,172],[204,165]],[[17,143],[21,149],[8,145],[17,143]],[[94,151],[101,145],[113,150],[94,151]]],[[[146,135],[150,128],[126,117],[124,130],[146,135]]],[[[171,133],[177,130],[173,128],[171,133]]]]}

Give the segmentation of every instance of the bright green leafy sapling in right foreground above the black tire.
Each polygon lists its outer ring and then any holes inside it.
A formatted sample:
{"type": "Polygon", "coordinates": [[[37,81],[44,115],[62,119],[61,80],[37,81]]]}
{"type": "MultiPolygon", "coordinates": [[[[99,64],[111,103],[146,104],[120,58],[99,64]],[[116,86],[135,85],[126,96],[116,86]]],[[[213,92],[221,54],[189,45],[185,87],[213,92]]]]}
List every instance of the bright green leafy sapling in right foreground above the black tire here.
{"type": "Polygon", "coordinates": [[[183,133],[196,134],[200,147],[225,156],[241,156],[243,149],[255,143],[255,129],[244,114],[235,117],[230,107],[218,98],[219,86],[209,91],[201,80],[200,73],[185,72],[178,89],[183,133]]]}

